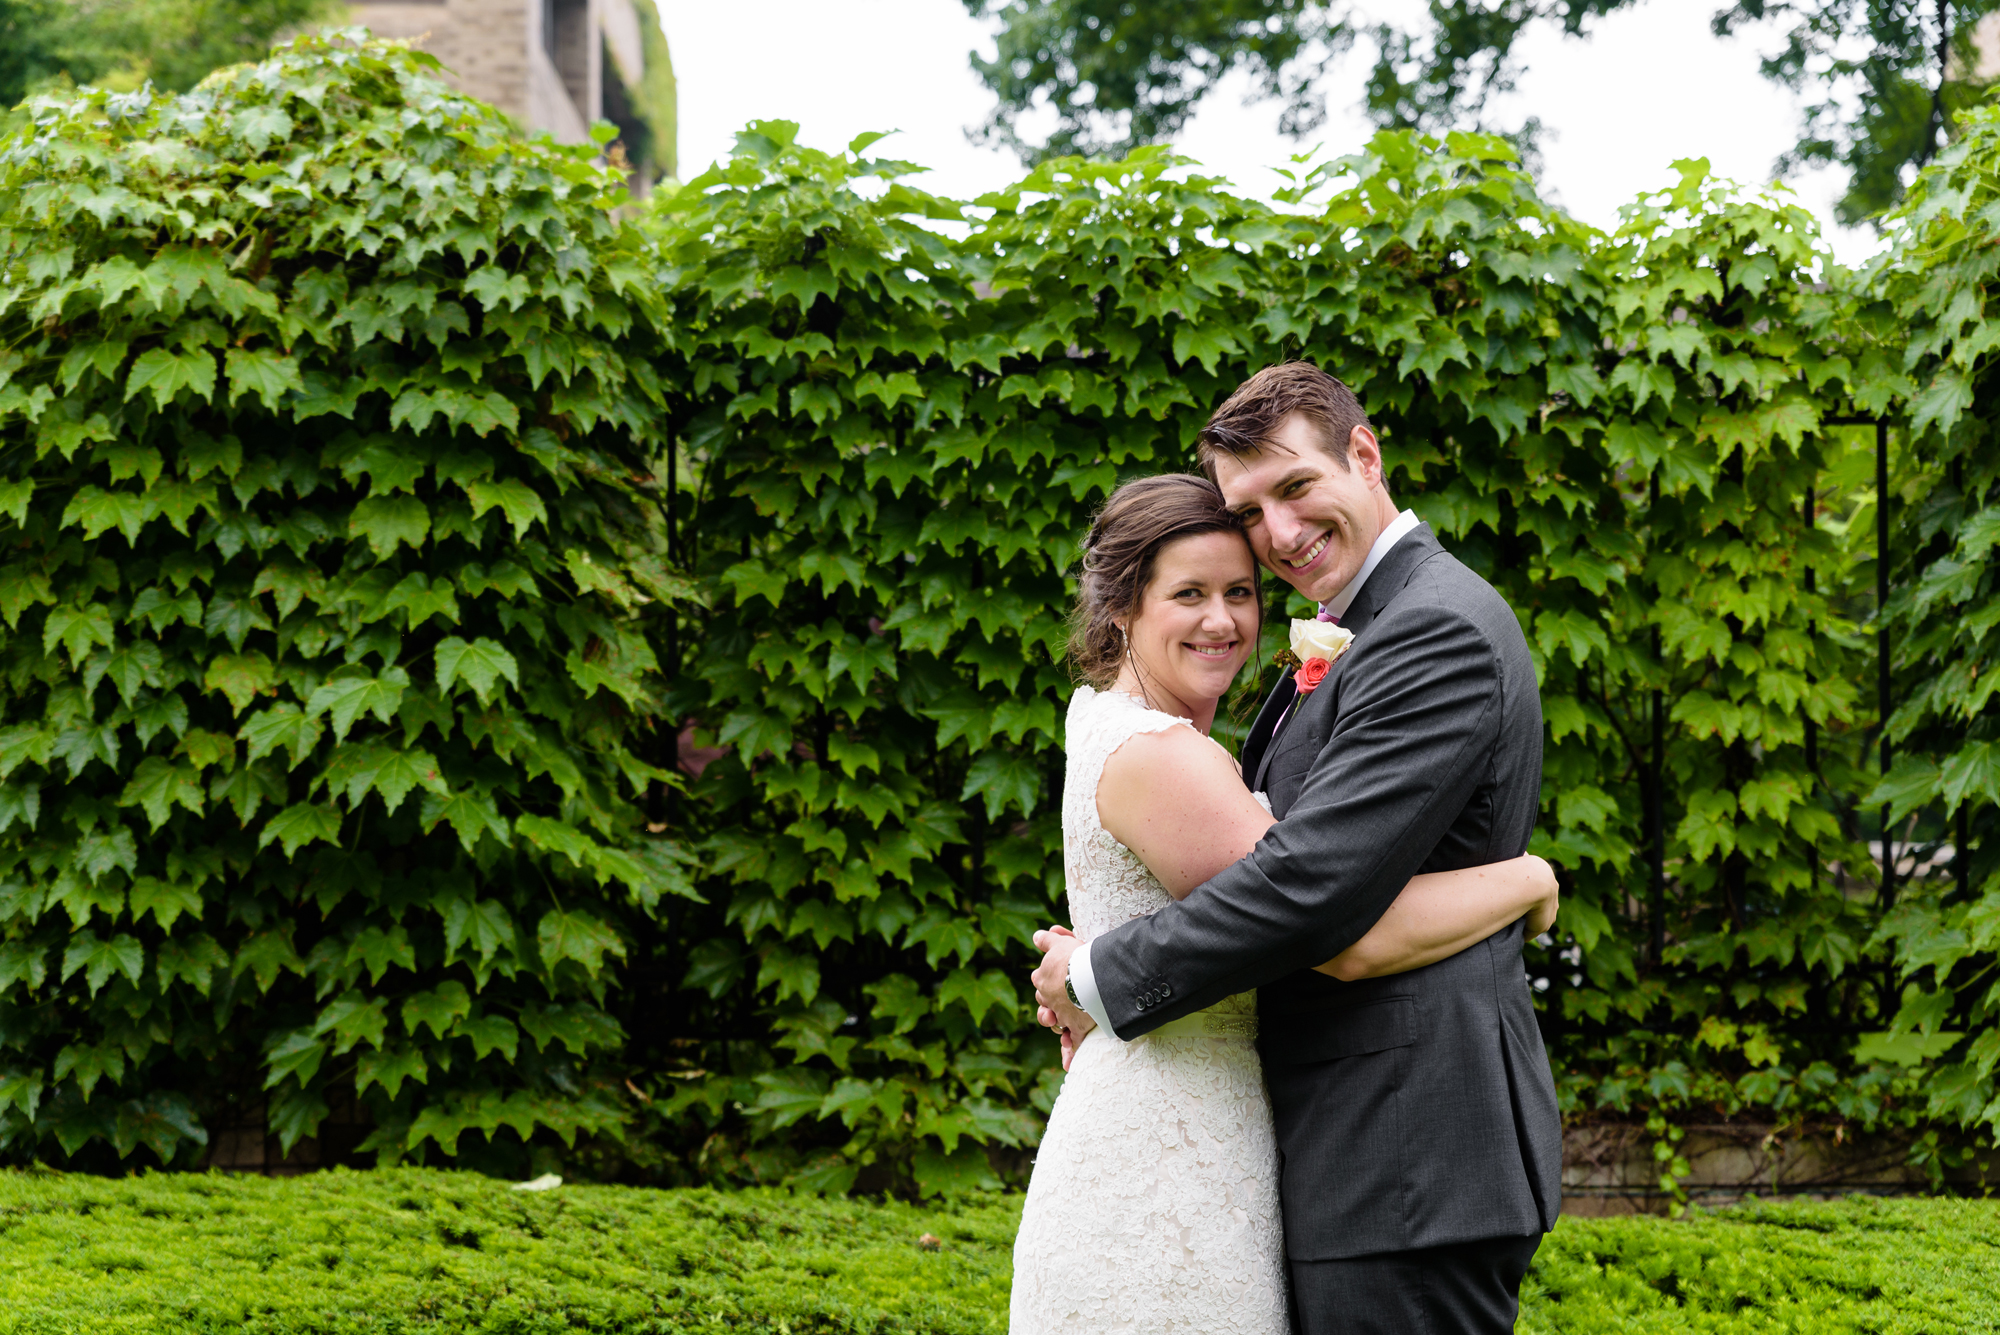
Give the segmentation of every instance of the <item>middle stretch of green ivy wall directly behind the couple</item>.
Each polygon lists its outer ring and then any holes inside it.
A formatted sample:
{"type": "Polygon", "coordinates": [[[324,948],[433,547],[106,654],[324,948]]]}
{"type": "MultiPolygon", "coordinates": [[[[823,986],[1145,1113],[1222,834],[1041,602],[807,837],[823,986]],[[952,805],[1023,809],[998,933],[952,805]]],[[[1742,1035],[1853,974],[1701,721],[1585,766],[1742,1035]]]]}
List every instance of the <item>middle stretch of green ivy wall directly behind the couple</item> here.
{"type": "Polygon", "coordinates": [[[1020,975],[1026,931],[1064,917],[1060,576],[1120,478],[1186,468],[1208,404],[1298,352],[1358,388],[1398,500],[1538,654],[1536,847],[1576,887],[1532,967],[1566,1107],[1918,1115],[1854,1055],[1894,1009],[1880,957],[1854,969],[1880,915],[1854,871],[1874,719],[1846,546],[1872,442],[1820,426],[1906,382],[1814,290],[1802,210],[1696,162],[1604,238],[1496,140],[1386,134],[1300,182],[1330,190],[1312,212],[1150,150],[1048,162],[954,244],[918,224],[956,206],[894,184],[904,164],[792,134],[758,126],[658,212],[694,332],[668,376],[682,552],[714,592],[672,711],[722,749],[690,823],[734,881],[662,951],[700,1039],[652,1049],[684,1071],[662,1111],[694,1117],[686,1171],[944,1189],[984,1175],[964,1137],[1036,1139],[1018,1109],[1048,1105],[1052,1053],[1020,975]]]}

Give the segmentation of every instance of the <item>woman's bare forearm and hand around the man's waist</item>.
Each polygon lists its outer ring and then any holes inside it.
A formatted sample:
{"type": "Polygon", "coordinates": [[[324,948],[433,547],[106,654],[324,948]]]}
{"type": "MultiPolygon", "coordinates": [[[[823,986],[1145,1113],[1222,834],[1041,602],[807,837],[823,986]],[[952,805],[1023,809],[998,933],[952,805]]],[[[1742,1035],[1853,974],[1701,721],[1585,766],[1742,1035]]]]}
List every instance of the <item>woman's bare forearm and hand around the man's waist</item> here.
{"type": "Polygon", "coordinates": [[[1404,885],[1360,941],[1318,965],[1344,981],[1408,973],[1450,959],[1528,917],[1538,937],[1556,921],[1556,871],[1534,853],[1462,871],[1426,871],[1404,885]]]}

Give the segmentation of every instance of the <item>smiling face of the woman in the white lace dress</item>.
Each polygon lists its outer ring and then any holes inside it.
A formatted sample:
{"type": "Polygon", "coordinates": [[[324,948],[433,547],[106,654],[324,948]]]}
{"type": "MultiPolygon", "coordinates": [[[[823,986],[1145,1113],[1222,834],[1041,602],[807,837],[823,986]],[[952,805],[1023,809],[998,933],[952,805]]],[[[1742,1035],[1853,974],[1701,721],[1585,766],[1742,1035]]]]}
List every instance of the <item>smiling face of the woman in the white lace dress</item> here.
{"type": "Polygon", "coordinates": [[[1166,544],[1126,622],[1132,654],[1118,689],[1206,729],[1216,701],[1256,652],[1256,562],[1240,534],[1166,544]]]}

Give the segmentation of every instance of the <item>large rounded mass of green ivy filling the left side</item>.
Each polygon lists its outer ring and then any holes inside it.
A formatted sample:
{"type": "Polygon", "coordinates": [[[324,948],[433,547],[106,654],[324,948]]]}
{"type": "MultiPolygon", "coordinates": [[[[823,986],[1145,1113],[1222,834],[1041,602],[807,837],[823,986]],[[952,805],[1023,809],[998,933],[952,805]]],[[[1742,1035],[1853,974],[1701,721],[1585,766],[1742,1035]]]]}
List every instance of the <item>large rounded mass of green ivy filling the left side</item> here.
{"type": "Polygon", "coordinates": [[[0,1143],[616,1129],[664,336],[618,180],[300,38],[0,150],[0,1143]],[[644,590],[644,592],[642,592],[644,590]]]}

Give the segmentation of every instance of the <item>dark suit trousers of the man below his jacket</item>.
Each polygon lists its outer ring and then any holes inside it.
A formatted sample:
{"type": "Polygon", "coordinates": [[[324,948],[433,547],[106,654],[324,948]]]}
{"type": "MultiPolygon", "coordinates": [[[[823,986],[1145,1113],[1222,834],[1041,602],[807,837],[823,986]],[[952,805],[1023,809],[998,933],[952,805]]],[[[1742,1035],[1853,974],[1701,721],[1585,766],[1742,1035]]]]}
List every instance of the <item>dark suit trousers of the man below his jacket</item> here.
{"type": "Polygon", "coordinates": [[[1288,1261],[1294,1335],[1504,1335],[1542,1235],[1288,1261]]]}

